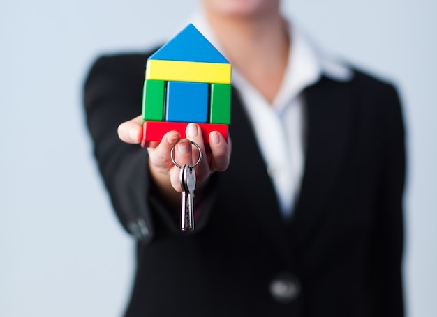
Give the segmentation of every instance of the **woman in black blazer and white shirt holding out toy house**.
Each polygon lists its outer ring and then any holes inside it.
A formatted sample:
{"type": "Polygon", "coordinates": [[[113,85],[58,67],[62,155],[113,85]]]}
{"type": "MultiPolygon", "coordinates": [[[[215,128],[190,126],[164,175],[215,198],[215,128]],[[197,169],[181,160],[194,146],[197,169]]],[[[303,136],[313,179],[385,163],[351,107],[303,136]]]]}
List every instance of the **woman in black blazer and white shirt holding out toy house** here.
{"type": "Polygon", "coordinates": [[[403,316],[394,88],[318,52],[279,0],[203,0],[194,24],[232,63],[228,142],[191,124],[138,146],[153,52],[103,56],[85,85],[105,185],[138,240],[126,316],[403,316]],[[192,163],[190,141],[205,157],[187,234],[170,152],[192,163]]]}

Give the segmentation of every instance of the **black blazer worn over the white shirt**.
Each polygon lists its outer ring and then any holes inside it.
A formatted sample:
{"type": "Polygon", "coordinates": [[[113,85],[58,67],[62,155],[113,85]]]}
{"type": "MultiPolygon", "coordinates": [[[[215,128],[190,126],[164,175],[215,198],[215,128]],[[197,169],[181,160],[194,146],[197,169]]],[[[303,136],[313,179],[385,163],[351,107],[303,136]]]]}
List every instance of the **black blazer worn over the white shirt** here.
{"type": "Polygon", "coordinates": [[[149,54],[104,56],[84,85],[98,167],[138,240],[126,316],[403,316],[403,118],[390,84],[362,72],[304,91],[306,160],[290,221],[279,213],[253,127],[232,91],[227,171],[193,234],[158,201],[147,150],[124,144],[149,54]]]}

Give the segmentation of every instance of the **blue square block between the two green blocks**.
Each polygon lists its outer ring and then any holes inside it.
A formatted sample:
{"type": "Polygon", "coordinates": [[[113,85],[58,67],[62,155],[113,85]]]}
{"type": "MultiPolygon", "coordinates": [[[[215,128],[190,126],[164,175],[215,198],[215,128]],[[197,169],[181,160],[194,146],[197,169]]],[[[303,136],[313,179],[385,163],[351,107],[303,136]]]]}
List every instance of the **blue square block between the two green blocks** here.
{"type": "Polygon", "coordinates": [[[206,123],[208,84],[168,82],[165,121],[206,123]]]}

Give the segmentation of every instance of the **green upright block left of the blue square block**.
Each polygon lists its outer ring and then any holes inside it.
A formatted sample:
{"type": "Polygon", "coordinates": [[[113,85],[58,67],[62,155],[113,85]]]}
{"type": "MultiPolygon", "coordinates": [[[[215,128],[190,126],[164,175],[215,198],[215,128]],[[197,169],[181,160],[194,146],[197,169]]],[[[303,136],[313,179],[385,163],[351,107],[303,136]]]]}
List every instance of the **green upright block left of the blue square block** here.
{"type": "Polygon", "coordinates": [[[142,119],[146,121],[163,121],[165,82],[147,79],[142,90],[142,119]]]}

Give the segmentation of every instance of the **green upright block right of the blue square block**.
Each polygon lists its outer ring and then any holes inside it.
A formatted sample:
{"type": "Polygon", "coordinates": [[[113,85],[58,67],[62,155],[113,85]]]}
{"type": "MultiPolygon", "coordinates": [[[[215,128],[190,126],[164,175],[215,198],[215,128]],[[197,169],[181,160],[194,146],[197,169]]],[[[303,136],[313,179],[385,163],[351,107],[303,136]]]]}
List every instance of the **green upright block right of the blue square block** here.
{"type": "Polygon", "coordinates": [[[230,84],[211,84],[209,123],[230,124],[230,84]]]}

